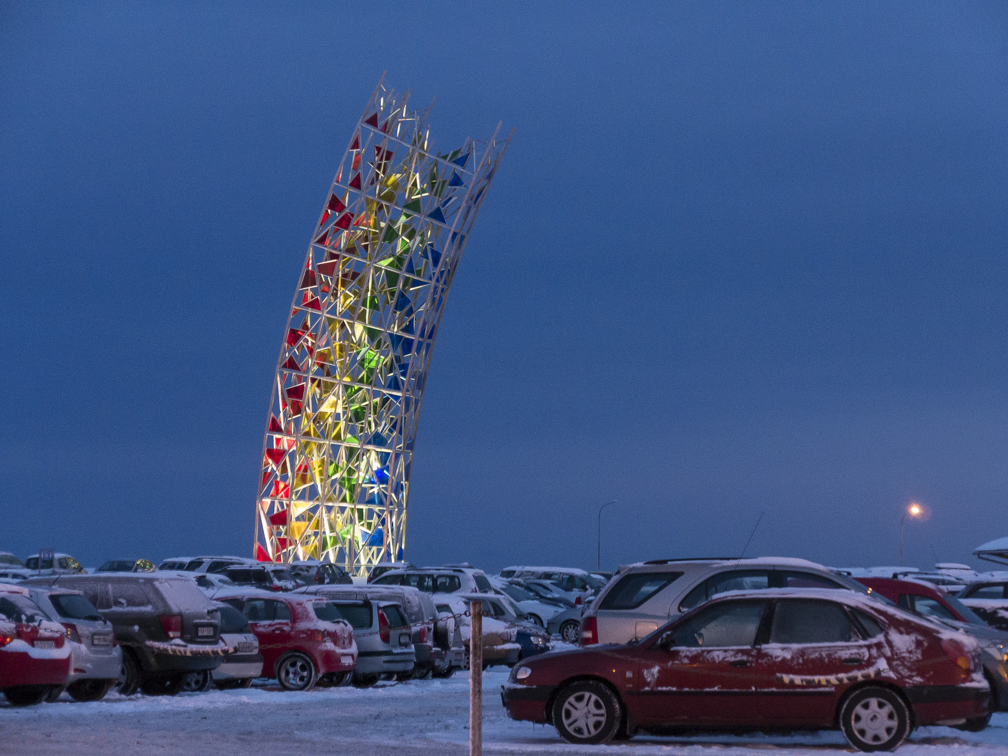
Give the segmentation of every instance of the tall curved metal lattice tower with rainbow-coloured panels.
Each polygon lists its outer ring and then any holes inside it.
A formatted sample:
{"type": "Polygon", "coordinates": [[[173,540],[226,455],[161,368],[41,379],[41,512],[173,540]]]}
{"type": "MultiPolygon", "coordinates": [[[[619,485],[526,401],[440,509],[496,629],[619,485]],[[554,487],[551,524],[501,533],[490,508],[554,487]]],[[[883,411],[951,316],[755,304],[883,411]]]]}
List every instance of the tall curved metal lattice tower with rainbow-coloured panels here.
{"type": "Polygon", "coordinates": [[[432,152],[430,108],[381,84],[340,163],[294,293],[256,504],[262,560],[363,575],[402,558],[409,470],[437,326],[507,149],[432,152]]]}

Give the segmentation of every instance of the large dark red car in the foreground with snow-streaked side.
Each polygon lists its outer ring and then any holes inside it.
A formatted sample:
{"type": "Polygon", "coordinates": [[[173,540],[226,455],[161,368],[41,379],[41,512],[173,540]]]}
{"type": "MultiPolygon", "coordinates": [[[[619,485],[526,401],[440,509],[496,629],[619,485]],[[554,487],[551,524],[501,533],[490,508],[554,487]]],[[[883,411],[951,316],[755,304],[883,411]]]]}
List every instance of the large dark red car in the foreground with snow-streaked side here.
{"type": "Polygon", "coordinates": [[[841,729],[862,751],[984,716],[970,636],[849,591],[733,592],[643,640],[537,656],[502,699],[571,743],[637,731],[841,729]]]}

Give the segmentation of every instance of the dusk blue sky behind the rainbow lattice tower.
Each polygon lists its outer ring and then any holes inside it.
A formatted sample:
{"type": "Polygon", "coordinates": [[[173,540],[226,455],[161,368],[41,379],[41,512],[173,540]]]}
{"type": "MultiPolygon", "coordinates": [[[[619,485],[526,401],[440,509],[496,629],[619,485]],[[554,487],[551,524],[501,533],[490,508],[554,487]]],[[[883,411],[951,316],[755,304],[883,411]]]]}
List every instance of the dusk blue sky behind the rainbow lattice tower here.
{"type": "Polygon", "coordinates": [[[0,549],[251,554],[287,308],[383,71],[515,128],[406,555],[968,561],[1008,535],[1008,8],[2,3],[0,549]]]}

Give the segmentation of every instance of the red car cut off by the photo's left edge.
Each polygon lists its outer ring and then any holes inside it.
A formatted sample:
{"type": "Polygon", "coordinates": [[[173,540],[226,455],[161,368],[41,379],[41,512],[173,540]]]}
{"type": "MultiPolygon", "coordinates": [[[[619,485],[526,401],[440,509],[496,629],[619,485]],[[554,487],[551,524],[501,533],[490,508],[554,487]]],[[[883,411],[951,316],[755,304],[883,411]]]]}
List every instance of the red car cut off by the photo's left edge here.
{"type": "Polygon", "coordinates": [[[16,586],[0,591],[0,690],[13,706],[42,702],[70,673],[69,631],[27,594],[16,586]]]}

